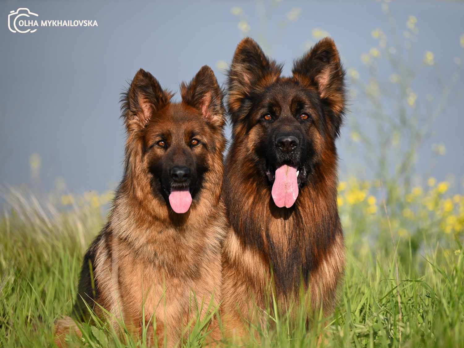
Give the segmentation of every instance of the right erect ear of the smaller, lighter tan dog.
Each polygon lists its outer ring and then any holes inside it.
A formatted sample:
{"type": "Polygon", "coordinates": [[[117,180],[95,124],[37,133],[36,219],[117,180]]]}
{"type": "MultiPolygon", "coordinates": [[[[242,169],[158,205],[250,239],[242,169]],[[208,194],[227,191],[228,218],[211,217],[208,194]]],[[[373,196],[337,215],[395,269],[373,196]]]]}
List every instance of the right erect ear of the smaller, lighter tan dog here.
{"type": "Polygon", "coordinates": [[[226,123],[222,90],[209,66],[204,65],[188,84],[182,82],[180,95],[184,103],[200,110],[213,126],[223,127],[226,123]]]}

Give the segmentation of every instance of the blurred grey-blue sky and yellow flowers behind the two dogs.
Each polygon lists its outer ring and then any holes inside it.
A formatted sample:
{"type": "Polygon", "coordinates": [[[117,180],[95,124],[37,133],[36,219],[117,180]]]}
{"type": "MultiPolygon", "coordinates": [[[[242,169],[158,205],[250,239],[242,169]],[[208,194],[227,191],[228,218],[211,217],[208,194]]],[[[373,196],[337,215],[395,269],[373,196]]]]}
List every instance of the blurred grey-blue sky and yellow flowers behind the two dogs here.
{"type": "Polygon", "coordinates": [[[295,58],[331,36],[350,96],[338,141],[345,230],[381,235],[388,207],[393,230],[418,245],[421,223],[462,232],[462,2],[4,1],[0,13],[18,7],[98,26],[20,34],[4,21],[2,206],[27,191],[61,208],[107,207],[122,174],[118,101],[139,68],[175,92],[204,64],[224,84],[236,45],[251,36],[290,74],[295,58]]]}

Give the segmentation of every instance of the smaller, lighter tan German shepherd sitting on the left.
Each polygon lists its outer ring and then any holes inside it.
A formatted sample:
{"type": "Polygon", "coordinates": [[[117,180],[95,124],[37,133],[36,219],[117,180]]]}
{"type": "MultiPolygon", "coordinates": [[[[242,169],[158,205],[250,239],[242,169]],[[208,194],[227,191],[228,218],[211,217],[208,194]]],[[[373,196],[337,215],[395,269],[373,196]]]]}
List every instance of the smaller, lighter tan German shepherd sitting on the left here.
{"type": "MultiPolygon", "coordinates": [[[[116,329],[123,321],[135,338],[144,321],[148,345],[174,346],[198,311],[204,318],[221,300],[223,91],[203,66],[180,92],[182,101],[171,102],[141,69],[122,96],[124,174],[109,221],[85,254],[72,313],[84,321],[87,304],[116,329]]],[[[73,319],[56,322],[58,345],[70,329],[82,335],[73,319]]]]}

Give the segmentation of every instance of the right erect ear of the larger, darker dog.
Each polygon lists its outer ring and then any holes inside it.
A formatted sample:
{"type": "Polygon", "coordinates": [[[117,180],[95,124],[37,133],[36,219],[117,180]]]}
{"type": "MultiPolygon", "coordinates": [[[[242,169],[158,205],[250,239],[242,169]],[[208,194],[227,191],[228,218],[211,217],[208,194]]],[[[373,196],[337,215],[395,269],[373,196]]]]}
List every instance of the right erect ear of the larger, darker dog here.
{"type": "Polygon", "coordinates": [[[335,116],[342,116],[345,108],[345,71],[334,40],[324,38],[302,58],[295,61],[293,76],[317,88],[335,116]]]}

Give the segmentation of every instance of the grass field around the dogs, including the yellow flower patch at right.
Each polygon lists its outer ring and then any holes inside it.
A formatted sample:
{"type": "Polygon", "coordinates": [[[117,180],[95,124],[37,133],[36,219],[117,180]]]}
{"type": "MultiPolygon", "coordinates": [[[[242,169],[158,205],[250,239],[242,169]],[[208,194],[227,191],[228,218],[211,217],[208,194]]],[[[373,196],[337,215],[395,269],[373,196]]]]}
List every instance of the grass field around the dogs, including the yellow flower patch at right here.
{"type": "MultiPolygon", "coordinates": [[[[258,330],[259,341],[250,338],[250,345],[308,347],[322,334],[321,345],[327,347],[464,346],[464,252],[458,230],[464,198],[447,198],[446,183],[429,184],[426,193],[415,188],[406,195],[405,208],[370,195],[374,185],[342,182],[348,266],[335,313],[316,314],[309,329],[303,314],[296,322],[270,316],[268,327],[258,330]]],[[[54,320],[70,312],[84,251],[103,226],[110,194],[55,195],[47,204],[14,190],[6,196],[11,209],[0,220],[0,346],[50,346],[54,320]]],[[[197,323],[184,345],[201,345],[205,327],[197,323]]],[[[84,323],[83,329],[84,339],[74,344],[127,343],[98,321],[84,323]]],[[[144,344],[143,337],[129,341],[134,347],[144,344]]]]}

